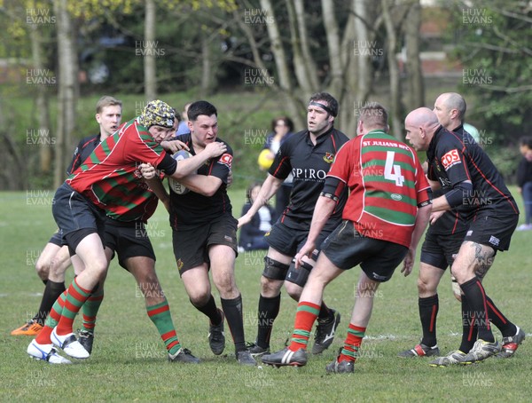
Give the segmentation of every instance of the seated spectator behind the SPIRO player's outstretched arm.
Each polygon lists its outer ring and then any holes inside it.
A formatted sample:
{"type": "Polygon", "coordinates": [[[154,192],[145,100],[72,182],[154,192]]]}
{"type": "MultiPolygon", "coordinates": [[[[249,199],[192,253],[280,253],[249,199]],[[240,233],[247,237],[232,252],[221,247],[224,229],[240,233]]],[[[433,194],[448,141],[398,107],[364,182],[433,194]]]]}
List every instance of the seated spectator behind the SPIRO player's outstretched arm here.
{"type": "MultiPolygon", "coordinates": [[[[259,191],[261,190],[261,186],[261,182],[255,182],[247,188],[247,201],[242,207],[241,216],[244,216],[251,208],[254,200],[257,197],[257,194],[259,194],[259,191]]],[[[277,217],[278,216],[275,209],[273,209],[269,204],[263,205],[251,218],[251,221],[242,226],[240,230],[239,251],[268,249],[270,246],[264,239],[264,234],[270,231],[271,225],[275,223],[277,217]]]]}

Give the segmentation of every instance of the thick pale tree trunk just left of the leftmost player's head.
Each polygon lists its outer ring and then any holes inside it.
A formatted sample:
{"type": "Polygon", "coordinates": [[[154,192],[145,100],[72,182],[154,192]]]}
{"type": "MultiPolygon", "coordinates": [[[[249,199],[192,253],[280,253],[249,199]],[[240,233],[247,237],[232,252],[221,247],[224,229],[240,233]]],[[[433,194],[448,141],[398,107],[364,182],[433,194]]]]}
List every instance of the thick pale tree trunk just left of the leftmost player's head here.
{"type": "Polygon", "coordinates": [[[78,60],[73,23],[66,10],[66,0],[54,0],[57,19],[59,93],[58,130],[54,167],[54,186],[65,180],[66,165],[74,149],[72,135],[76,119],[78,60]]]}

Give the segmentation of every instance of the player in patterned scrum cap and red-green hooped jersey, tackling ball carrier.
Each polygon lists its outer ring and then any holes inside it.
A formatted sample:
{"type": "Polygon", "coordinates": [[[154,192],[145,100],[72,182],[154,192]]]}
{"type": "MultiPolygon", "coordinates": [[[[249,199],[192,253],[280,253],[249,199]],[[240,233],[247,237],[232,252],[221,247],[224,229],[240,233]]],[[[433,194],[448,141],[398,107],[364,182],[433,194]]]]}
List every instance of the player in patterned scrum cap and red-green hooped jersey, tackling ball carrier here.
{"type": "Polygon", "coordinates": [[[142,164],[149,163],[168,176],[181,178],[225,151],[224,145],[214,144],[177,166],[160,146],[174,132],[174,117],[174,110],[166,103],[149,102],[142,115],[107,138],[59,186],[52,213],[69,247],[74,268],[77,265],[82,273],[67,289],[61,315],[54,318],[57,327],[51,331],[45,327],[39,335],[43,355],[51,353],[53,343],[71,357],[89,357],[74,336],[73,321],[91,290],[106,276],[107,258],[102,242],[106,213],[125,220],[143,217],[142,206],[151,193],[139,171],[142,164]]]}

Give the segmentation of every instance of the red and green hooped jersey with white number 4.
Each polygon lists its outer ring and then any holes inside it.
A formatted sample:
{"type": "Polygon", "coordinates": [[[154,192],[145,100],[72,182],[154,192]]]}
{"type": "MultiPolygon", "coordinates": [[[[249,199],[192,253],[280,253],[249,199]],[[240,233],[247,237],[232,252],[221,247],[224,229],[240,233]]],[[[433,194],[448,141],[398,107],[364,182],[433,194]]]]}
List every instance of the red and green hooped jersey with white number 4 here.
{"type": "Polygon", "coordinates": [[[341,147],[327,176],[348,186],[342,217],[358,233],[410,246],[418,206],[430,202],[430,186],[410,146],[372,130],[341,147]]]}

